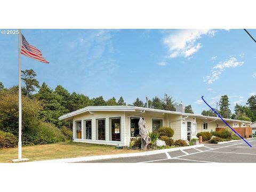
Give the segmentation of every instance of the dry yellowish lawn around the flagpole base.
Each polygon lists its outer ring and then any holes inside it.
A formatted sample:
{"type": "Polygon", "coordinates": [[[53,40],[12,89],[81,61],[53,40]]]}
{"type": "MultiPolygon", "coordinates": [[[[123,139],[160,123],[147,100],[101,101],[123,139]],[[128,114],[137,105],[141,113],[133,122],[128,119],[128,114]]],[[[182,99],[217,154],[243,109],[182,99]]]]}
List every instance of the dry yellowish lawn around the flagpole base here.
{"type": "MultiPolygon", "coordinates": [[[[141,150],[115,149],[115,146],[97,145],[91,143],[59,142],[49,145],[36,145],[22,147],[22,157],[29,161],[46,159],[84,157],[94,155],[111,155],[123,153],[135,153],[141,150]]],[[[18,156],[18,148],[0,149],[0,163],[11,162],[18,156]]]]}

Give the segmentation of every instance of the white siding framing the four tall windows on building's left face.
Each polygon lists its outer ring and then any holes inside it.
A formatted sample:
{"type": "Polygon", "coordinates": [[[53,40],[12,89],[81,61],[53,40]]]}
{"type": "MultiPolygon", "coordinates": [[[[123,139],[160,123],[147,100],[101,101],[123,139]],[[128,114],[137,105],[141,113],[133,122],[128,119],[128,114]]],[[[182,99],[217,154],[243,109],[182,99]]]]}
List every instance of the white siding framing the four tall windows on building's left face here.
{"type": "MultiPolygon", "coordinates": [[[[82,139],[74,139],[74,142],[87,142],[87,143],[97,143],[97,144],[105,144],[105,145],[119,145],[125,146],[125,126],[124,126],[124,112],[123,111],[95,111],[93,114],[89,112],[76,115],[73,119],[73,133],[75,133],[75,121],[82,121],[82,139]],[[109,118],[112,117],[121,117],[121,141],[111,141],[109,138],[109,118]],[[96,140],[96,119],[105,118],[105,129],[106,129],[106,140],[96,140]],[[92,119],[92,139],[84,139],[83,128],[84,128],[84,120],[92,119]]],[[[75,134],[74,134],[75,135],[75,134]]]]}

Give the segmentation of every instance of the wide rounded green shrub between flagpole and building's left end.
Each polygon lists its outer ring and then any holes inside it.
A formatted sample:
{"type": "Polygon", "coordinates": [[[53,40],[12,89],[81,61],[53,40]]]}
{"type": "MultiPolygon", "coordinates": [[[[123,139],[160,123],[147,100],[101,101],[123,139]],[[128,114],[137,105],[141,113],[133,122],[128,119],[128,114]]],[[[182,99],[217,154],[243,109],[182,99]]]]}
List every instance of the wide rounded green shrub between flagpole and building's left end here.
{"type": "Polygon", "coordinates": [[[43,145],[54,142],[66,141],[61,130],[51,123],[39,122],[30,127],[23,135],[24,145],[43,145]]]}

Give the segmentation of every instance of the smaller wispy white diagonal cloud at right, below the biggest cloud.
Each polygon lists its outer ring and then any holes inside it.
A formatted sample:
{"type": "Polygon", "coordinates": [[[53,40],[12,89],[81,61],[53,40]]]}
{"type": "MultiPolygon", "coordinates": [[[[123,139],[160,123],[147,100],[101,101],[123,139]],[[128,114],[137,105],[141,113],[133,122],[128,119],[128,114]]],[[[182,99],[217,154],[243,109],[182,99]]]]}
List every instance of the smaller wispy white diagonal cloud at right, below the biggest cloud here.
{"type": "Polygon", "coordinates": [[[219,62],[217,65],[212,67],[211,75],[204,77],[204,82],[211,84],[219,79],[220,75],[226,68],[235,68],[238,66],[242,66],[243,64],[243,61],[237,61],[235,57],[231,57],[224,62],[219,62]]]}

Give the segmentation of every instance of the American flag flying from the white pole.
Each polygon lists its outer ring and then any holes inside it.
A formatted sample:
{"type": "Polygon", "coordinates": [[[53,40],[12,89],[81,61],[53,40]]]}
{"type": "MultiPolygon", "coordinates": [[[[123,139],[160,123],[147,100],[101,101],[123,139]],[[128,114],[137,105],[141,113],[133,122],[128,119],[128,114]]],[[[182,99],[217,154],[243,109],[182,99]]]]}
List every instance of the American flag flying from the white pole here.
{"type": "Polygon", "coordinates": [[[22,44],[21,44],[21,54],[26,55],[29,58],[35,59],[37,61],[41,61],[44,63],[49,63],[49,61],[46,61],[43,58],[43,55],[41,53],[41,51],[39,51],[38,49],[36,49],[36,47],[30,45],[26,38],[21,34],[22,36],[22,44]]]}

